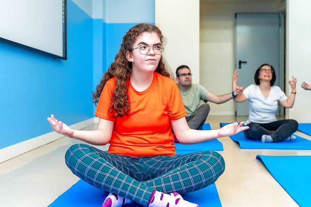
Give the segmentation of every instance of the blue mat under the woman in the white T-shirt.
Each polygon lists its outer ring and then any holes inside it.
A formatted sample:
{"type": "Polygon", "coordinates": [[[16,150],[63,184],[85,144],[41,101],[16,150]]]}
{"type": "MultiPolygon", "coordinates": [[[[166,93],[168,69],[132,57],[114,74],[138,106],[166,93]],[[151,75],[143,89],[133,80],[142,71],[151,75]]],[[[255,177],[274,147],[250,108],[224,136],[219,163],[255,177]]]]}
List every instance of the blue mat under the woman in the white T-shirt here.
{"type": "MultiPolygon", "coordinates": [[[[220,123],[223,127],[230,123],[220,123]]],[[[283,142],[272,142],[272,143],[262,143],[260,140],[248,139],[245,137],[243,132],[237,133],[230,138],[234,142],[238,142],[240,148],[244,149],[287,149],[287,150],[310,150],[311,141],[299,137],[297,135],[295,141],[283,141],[283,142]]]]}

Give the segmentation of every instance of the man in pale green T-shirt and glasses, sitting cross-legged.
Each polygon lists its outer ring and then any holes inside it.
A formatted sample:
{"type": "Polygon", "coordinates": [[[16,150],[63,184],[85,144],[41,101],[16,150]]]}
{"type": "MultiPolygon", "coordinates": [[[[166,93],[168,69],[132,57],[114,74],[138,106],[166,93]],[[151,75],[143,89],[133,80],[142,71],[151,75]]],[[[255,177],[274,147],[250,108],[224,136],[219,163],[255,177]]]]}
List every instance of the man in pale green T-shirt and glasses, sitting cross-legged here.
{"type": "Polygon", "coordinates": [[[207,101],[216,104],[225,103],[231,98],[241,95],[244,89],[243,87],[237,86],[234,92],[216,96],[211,92],[208,92],[208,90],[200,84],[193,84],[191,75],[191,70],[187,65],[180,65],[176,69],[177,85],[183,98],[183,105],[187,112],[187,123],[192,129],[202,129],[208,112],[210,111],[210,106],[207,104],[207,101]],[[201,100],[204,101],[205,104],[200,106],[201,100]]]}

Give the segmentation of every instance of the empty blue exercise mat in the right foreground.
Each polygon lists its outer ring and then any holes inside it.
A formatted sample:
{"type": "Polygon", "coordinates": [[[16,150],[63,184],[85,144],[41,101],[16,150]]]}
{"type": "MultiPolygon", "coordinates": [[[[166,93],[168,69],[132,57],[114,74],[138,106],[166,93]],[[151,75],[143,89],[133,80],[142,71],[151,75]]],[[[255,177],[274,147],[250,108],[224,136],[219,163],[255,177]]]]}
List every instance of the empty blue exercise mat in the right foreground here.
{"type": "Polygon", "coordinates": [[[273,178],[299,206],[311,206],[311,156],[257,155],[273,178]]]}

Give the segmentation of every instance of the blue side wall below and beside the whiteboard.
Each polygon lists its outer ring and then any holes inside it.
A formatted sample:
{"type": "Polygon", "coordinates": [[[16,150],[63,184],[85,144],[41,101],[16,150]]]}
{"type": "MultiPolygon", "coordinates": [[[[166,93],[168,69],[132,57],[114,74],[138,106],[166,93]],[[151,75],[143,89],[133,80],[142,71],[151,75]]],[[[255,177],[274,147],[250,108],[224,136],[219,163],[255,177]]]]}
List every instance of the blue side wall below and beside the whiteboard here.
{"type": "Polygon", "coordinates": [[[0,42],[0,149],[93,117],[93,20],[67,1],[67,58],[0,42]]]}

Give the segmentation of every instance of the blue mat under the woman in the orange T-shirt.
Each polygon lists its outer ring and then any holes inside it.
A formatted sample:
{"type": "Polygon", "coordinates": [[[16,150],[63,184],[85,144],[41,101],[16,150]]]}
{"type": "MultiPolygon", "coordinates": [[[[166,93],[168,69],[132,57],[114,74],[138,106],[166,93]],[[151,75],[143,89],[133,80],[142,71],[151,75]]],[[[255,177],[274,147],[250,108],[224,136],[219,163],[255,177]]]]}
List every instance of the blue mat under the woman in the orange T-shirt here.
{"type": "MultiPolygon", "coordinates": [[[[177,154],[188,154],[192,151],[177,151],[177,154]]],[[[79,180],[49,205],[49,207],[100,207],[108,193],[79,180]]],[[[221,207],[215,183],[201,190],[182,195],[185,200],[200,207],[221,207]]],[[[142,207],[140,204],[127,204],[124,207],[142,207]]]]}

